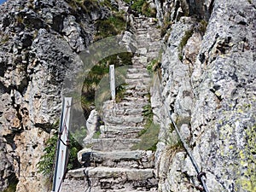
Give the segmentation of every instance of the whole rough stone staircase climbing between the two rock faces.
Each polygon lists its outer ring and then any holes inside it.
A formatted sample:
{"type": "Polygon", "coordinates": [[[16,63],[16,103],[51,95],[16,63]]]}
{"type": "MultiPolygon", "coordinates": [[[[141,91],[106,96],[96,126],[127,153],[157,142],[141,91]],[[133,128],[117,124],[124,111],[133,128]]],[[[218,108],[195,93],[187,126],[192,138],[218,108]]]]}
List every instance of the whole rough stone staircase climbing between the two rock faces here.
{"type": "MultiPolygon", "coordinates": [[[[154,152],[133,150],[145,120],[151,77],[148,62],[159,55],[160,30],[150,18],[134,19],[137,52],[125,83],[125,97],[119,103],[104,102],[99,138],[79,152],[84,168],[67,173],[61,191],[157,191],[154,152]]],[[[150,139],[150,138],[148,138],[150,139]]]]}

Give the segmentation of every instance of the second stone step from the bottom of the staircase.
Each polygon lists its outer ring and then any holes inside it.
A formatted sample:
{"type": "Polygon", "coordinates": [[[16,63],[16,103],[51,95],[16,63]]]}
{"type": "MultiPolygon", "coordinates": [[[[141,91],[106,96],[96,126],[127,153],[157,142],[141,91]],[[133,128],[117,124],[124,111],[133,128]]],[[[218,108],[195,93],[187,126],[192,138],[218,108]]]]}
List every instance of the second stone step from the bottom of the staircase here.
{"type": "Polygon", "coordinates": [[[84,166],[146,169],[154,168],[154,153],[143,150],[102,152],[84,148],[79,151],[79,162],[84,166]]]}

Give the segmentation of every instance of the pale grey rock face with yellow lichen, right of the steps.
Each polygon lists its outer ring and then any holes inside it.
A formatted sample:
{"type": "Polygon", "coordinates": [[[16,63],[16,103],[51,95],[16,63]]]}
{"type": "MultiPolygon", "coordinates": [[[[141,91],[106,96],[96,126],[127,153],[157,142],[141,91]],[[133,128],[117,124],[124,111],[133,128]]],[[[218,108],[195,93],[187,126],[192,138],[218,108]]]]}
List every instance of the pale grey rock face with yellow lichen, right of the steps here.
{"type": "Polygon", "coordinates": [[[177,3],[164,8],[173,24],[153,89],[160,91],[153,98],[159,138],[166,138],[156,153],[159,191],[201,189],[188,155],[173,144],[169,112],[206,173],[209,191],[255,191],[255,2],[215,0],[207,13],[196,7],[199,18],[210,14],[206,31],[201,19],[178,18],[177,3]]]}

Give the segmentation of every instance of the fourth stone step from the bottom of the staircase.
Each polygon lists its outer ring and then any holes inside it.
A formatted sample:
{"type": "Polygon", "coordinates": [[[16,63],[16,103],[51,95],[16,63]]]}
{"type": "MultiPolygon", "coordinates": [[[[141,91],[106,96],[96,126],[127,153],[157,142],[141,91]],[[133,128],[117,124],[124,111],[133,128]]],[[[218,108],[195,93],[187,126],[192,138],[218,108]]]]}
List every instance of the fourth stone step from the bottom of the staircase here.
{"type": "Polygon", "coordinates": [[[143,126],[100,126],[102,138],[137,138],[143,129],[143,126]]]}

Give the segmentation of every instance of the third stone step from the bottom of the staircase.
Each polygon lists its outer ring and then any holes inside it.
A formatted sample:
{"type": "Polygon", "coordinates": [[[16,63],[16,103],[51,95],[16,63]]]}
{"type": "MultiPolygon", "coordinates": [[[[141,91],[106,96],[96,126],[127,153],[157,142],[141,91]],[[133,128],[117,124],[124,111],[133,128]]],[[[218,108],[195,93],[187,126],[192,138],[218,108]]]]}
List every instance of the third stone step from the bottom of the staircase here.
{"type": "Polygon", "coordinates": [[[131,150],[131,147],[139,143],[140,139],[99,138],[91,140],[91,148],[98,151],[131,150]]]}

